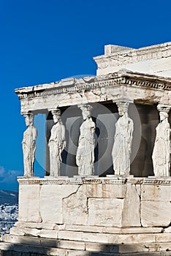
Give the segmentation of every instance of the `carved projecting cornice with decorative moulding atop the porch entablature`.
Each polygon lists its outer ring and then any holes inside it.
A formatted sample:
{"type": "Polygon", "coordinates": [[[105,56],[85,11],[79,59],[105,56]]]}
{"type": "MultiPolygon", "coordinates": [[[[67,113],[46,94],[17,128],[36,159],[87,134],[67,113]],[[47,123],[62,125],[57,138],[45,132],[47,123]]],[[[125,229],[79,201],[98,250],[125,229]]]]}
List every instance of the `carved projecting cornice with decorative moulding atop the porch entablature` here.
{"type": "Polygon", "coordinates": [[[141,87],[153,90],[171,90],[171,78],[157,75],[148,75],[121,69],[107,75],[98,75],[88,78],[69,78],[55,83],[45,83],[40,86],[29,86],[15,89],[19,99],[34,99],[48,97],[55,94],[73,94],[82,91],[91,91],[99,88],[115,86],[141,87]]]}

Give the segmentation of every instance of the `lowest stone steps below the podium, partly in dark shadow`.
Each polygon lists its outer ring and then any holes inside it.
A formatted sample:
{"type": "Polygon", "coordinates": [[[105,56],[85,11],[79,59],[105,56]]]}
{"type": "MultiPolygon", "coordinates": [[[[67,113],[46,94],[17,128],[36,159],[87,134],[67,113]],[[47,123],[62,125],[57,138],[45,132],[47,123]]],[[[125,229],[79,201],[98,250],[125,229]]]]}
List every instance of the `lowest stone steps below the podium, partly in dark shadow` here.
{"type": "MultiPolygon", "coordinates": [[[[11,239],[0,243],[0,253],[4,256],[107,256],[107,255],[142,255],[142,256],[170,256],[170,242],[137,244],[103,244],[88,241],[60,240],[58,244],[55,239],[27,238],[23,239],[23,244],[12,244],[18,241],[13,236],[11,239]],[[11,244],[9,244],[11,241],[11,244]],[[34,242],[33,242],[34,241],[34,242]],[[42,244],[41,244],[42,242],[42,244]],[[29,244],[30,243],[30,244],[29,244]],[[36,244],[36,245],[35,245],[36,244]],[[11,251],[9,252],[9,246],[11,251]],[[50,247],[51,246],[51,247],[50,247]],[[8,250],[6,254],[6,250],[8,250]]],[[[132,239],[133,240],[133,239],[132,239]]]]}

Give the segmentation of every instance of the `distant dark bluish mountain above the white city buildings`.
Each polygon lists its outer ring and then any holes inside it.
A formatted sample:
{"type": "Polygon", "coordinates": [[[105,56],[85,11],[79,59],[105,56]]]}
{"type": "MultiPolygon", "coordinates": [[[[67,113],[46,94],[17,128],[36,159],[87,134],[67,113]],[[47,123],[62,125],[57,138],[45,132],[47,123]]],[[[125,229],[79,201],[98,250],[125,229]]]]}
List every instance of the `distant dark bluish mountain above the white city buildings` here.
{"type": "Polygon", "coordinates": [[[4,203],[9,203],[10,205],[18,203],[18,192],[0,190],[0,205],[4,203]]]}

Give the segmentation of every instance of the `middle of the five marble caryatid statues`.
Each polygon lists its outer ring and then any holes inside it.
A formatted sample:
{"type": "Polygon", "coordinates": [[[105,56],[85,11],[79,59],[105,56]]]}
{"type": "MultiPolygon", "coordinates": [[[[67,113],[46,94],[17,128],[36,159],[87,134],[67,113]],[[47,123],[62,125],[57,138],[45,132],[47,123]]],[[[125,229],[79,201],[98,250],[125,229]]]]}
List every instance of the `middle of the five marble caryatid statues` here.
{"type": "Polygon", "coordinates": [[[81,105],[83,124],[80,126],[80,137],[77,148],[76,163],[78,175],[94,175],[94,132],[96,124],[91,118],[91,105],[81,105]]]}

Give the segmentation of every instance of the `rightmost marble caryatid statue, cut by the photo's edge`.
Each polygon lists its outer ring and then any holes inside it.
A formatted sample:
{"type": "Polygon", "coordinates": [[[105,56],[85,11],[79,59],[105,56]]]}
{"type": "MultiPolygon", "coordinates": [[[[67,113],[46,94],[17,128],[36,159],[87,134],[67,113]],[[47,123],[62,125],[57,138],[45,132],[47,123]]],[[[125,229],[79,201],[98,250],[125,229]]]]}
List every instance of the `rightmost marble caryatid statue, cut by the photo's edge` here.
{"type": "Polygon", "coordinates": [[[156,140],[153,147],[153,173],[155,176],[170,176],[170,108],[158,105],[160,123],[156,127],[156,140]]]}

